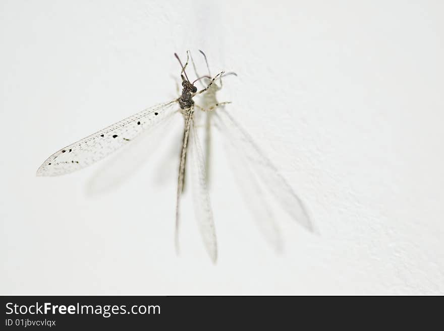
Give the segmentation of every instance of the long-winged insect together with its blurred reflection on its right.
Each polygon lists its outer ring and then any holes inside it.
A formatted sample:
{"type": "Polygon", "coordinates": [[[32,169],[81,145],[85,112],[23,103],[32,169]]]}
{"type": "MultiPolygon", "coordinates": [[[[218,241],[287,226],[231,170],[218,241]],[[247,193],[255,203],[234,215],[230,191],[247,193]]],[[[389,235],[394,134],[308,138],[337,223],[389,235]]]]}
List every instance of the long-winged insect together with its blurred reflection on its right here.
{"type": "Polygon", "coordinates": [[[192,189],[196,219],[205,249],[211,260],[215,262],[217,258],[216,235],[207,189],[211,140],[210,126],[213,117],[215,117],[217,127],[227,138],[227,151],[235,154],[236,160],[239,160],[239,162],[233,162],[233,169],[235,170],[237,179],[239,181],[246,180],[250,183],[250,185],[241,185],[243,195],[248,197],[247,204],[253,211],[262,233],[279,249],[281,242],[279,230],[273,223],[272,216],[266,207],[267,204],[266,201],[264,201],[263,195],[258,193],[260,192],[260,188],[255,176],[266,185],[272,195],[277,198],[292,218],[310,231],[313,231],[310,217],[291,186],[279,174],[269,159],[263,155],[246,131],[244,131],[225,110],[224,106],[230,102],[217,101],[216,93],[222,87],[221,78],[234,73],[225,74],[224,72],[220,72],[214,77],[211,77],[206,56],[202,51],[200,52],[203,54],[207,64],[208,76],[199,76],[197,74],[194,61],[189,51],[187,51],[187,61],[185,65],[182,65],[179,56],[175,53],[182,68],[182,93],[177,99],[145,109],[133,116],[109,125],[74,144],[62,148],[43,162],[37,170],[37,176],[58,176],[82,169],[105,158],[121,147],[137,141],[142,133],[150,133],[154,127],[159,126],[159,124],[163,122],[168,122],[168,119],[171,119],[173,115],[181,113],[184,117],[184,130],[177,185],[175,244],[176,248],[178,248],[180,202],[184,188],[185,172],[187,170],[187,152],[189,147],[191,147],[192,189]],[[197,77],[193,82],[190,82],[186,73],[190,57],[197,77]],[[219,79],[220,86],[215,83],[217,79],[219,79]],[[199,91],[194,85],[197,81],[199,81],[203,87],[199,91]],[[204,82],[206,84],[204,84],[204,82]],[[196,96],[200,97],[200,105],[195,104],[193,100],[196,96]],[[205,123],[205,156],[200,145],[195,124],[196,109],[207,115],[205,123]],[[249,170],[250,166],[253,171],[249,170]]]}

